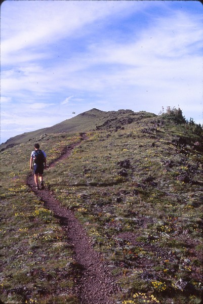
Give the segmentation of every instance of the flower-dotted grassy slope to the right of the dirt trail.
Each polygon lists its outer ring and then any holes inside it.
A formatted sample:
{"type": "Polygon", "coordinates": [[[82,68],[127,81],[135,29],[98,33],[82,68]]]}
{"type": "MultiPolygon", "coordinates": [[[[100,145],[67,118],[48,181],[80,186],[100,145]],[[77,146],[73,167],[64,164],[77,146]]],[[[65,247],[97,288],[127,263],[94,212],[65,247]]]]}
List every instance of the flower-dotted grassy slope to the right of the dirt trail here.
{"type": "MultiPolygon", "coordinates": [[[[178,136],[184,134],[184,128],[176,128],[178,136]]],[[[163,129],[155,148],[151,147],[154,139],[142,135],[138,128],[118,131],[110,137],[107,131],[98,132],[49,172],[50,189],[75,211],[95,249],[109,260],[112,272],[119,274],[116,277],[126,299],[136,292],[150,297],[152,291],[165,303],[170,302],[169,293],[176,302],[180,298],[181,303],[190,303],[195,297],[198,301],[200,297],[201,267],[193,263],[196,257],[192,248],[202,244],[201,185],[179,182],[176,177],[187,172],[189,164],[196,168],[192,180],[200,181],[201,169],[196,160],[200,164],[202,155],[189,146],[179,153],[177,147],[167,144],[176,135],[175,126],[173,132],[172,136],[163,129]],[[131,166],[127,168],[128,176],[120,177],[118,162],[124,159],[130,160],[131,166]],[[174,166],[166,169],[164,161],[169,159],[174,166]],[[60,188],[55,185],[56,172],[60,188]],[[155,186],[145,182],[150,176],[155,186]],[[116,235],[126,232],[135,234],[135,244],[121,237],[117,240],[116,235]],[[136,251],[138,248],[142,253],[136,251]],[[166,291],[157,291],[151,286],[153,279],[141,279],[141,275],[134,284],[135,271],[158,277],[166,283],[166,291]],[[177,287],[179,279],[192,285],[190,295],[183,296],[187,288],[177,287]]],[[[200,258],[201,249],[195,254],[200,258]]]]}

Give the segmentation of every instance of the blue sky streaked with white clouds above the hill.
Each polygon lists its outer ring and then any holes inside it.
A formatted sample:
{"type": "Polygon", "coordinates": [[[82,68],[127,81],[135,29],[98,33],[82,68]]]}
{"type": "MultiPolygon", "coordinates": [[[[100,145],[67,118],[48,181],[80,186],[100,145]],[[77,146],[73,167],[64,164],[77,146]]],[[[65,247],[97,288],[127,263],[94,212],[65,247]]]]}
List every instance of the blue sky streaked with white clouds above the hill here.
{"type": "Polygon", "coordinates": [[[5,1],[1,143],[92,108],[180,107],[202,123],[202,12],[198,1],[5,1]]]}

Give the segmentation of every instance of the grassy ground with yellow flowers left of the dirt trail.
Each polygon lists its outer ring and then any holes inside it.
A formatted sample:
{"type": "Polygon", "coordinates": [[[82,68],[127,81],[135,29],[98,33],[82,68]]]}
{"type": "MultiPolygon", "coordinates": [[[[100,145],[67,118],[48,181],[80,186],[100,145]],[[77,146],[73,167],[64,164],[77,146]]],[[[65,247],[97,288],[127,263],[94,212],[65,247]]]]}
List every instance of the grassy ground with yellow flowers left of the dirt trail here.
{"type": "MultiPolygon", "coordinates": [[[[78,138],[50,136],[49,161],[78,138]],[[56,144],[56,139],[61,139],[56,144]]],[[[77,303],[72,248],[54,214],[26,186],[33,143],[1,154],[1,299],[5,303],[77,303]],[[18,157],[18,159],[17,159],[18,157]]]]}

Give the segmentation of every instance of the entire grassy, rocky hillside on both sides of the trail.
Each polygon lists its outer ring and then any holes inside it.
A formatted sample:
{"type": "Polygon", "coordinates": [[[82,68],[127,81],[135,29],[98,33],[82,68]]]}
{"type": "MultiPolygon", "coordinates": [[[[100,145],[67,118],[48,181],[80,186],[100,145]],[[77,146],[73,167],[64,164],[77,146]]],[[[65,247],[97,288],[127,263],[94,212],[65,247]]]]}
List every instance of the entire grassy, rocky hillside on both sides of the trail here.
{"type": "Polygon", "coordinates": [[[33,141],[51,162],[84,131],[89,139],[47,170],[45,182],[103,254],[121,288],[113,302],[201,302],[202,134],[172,116],[93,109],[72,118],[72,133],[65,121],[1,152],[5,303],[78,303],[73,248],[26,177],[33,141]]]}

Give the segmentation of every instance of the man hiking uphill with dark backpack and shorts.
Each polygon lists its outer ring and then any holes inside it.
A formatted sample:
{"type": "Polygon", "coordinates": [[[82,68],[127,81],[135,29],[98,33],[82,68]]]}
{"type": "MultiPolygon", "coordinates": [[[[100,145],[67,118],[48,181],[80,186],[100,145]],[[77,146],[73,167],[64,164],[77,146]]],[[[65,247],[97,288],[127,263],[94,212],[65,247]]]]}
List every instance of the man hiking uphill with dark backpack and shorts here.
{"type": "Polygon", "coordinates": [[[43,150],[39,149],[39,144],[35,144],[34,149],[35,150],[32,151],[30,157],[30,170],[32,169],[34,170],[34,182],[36,184],[36,189],[39,190],[38,177],[39,177],[41,189],[45,189],[43,182],[43,173],[44,173],[44,168],[45,169],[47,168],[47,155],[43,150]]]}

